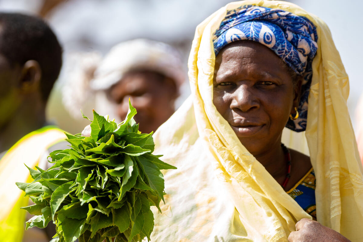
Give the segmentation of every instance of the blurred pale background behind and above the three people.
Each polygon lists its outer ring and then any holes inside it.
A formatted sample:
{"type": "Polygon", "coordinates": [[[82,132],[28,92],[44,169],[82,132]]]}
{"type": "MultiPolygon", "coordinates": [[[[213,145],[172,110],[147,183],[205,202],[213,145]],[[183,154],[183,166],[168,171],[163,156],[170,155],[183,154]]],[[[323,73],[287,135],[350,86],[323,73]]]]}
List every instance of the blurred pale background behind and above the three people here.
{"type": "MultiPolygon", "coordinates": [[[[118,42],[150,38],[166,42],[183,54],[185,71],[195,27],[229,0],[0,0],[0,11],[17,11],[44,17],[64,47],[64,66],[48,105],[49,119],[72,133],[89,122],[74,118],[62,104],[61,87],[74,65],[69,54],[95,52],[100,56],[118,42]]],[[[363,15],[357,0],[291,0],[314,13],[330,27],[335,45],[350,77],[348,108],[355,127],[355,108],[363,93],[361,78],[363,15]]],[[[190,91],[182,88],[179,106],[190,91]]],[[[91,110],[83,110],[86,115],[91,110]]],[[[97,111],[97,110],[96,110],[97,111]]],[[[360,110],[363,112],[363,110],[360,110]]]]}

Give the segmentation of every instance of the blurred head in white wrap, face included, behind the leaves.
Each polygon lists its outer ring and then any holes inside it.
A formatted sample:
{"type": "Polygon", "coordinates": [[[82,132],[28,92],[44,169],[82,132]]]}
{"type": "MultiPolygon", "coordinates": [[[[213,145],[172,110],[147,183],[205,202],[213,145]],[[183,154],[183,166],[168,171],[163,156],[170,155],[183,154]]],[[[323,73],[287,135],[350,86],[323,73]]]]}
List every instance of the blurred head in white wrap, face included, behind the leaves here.
{"type": "MultiPolygon", "coordinates": [[[[155,131],[174,112],[184,81],[179,53],[171,46],[132,40],[114,46],[94,73],[91,87],[101,90],[120,120],[125,119],[129,98],[137,110],[142,132],[155,131]]],[[[100,101],[97,101],[99,104],[100,101]]],[[[105,111],[98,110],[100,112],[105,111]]],[[[110,114],[110,110],[107,110],[110,114]]]]}

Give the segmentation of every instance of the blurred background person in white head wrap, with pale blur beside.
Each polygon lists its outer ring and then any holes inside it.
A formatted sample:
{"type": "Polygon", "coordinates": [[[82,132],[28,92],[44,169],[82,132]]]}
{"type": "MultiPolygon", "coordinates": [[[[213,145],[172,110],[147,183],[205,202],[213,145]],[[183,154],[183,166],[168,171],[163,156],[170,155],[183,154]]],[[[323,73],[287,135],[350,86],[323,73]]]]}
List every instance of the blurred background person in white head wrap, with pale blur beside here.
{"type": "Polygon", "coordinates": [[[144,133],[155,131],[174,113],[185,81],[179,52],[148,39],[121,42],[102,60],[95,52],[74,53],[68,69],[62,99],[72,118],[82,119],[79,109],[87,115],[94,108],[119,123],[126,117],[130,98],[144,133]]]}

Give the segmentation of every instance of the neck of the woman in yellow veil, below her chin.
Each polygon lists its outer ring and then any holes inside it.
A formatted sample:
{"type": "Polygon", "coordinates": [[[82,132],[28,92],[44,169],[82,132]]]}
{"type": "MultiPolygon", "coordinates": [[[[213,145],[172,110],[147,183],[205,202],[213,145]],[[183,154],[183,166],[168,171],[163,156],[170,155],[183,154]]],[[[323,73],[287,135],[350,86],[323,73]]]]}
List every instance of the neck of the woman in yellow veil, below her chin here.
{"type": "Polygon", "coordinates": [[[284,151],[281,148],[281,139],[269,146],[269,149],[265,152],[255,155],[255,157],[276,181],[280,182],[285,179],[287,163],[284,151]]]}

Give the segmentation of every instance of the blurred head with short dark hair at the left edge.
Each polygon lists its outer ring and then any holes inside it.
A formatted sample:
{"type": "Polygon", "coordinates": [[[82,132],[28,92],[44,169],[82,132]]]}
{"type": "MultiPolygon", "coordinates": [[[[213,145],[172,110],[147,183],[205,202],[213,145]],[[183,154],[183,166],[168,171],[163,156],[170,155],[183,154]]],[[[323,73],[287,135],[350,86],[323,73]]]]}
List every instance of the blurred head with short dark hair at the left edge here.
{"type": "Polygon", "coordinates": [[[0,126],[26,97],[46,103],[61,65],[62,48],[44,21],[0,13],[0,126]]]}

